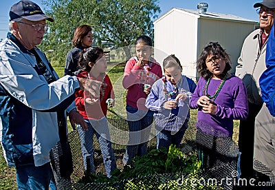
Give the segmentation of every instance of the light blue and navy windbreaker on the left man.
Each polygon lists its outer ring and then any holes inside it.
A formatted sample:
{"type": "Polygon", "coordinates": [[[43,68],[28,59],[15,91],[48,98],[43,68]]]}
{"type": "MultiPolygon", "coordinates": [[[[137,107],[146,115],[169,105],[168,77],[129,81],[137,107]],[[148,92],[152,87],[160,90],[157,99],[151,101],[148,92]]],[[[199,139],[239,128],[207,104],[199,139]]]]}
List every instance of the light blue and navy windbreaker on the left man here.
{"type": "Polygon", "coordinates": [[[56,81],[48,84],[36,58],[12,34],[0,43],[0,140],[8,165],[44,165],[58,142],[58,114],[76,107],[76,76],[58,75],[45,54],[34,47],[56,81]],[[59,110],[58,110],[59,109],[59,110]]]}

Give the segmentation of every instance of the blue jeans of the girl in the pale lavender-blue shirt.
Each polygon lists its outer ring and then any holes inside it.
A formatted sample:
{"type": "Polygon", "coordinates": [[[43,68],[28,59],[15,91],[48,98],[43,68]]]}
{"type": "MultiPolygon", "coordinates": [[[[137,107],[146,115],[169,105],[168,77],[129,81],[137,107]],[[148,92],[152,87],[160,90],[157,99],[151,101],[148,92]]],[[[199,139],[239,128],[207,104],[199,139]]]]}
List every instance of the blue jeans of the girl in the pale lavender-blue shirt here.
{"type": "Polygon", "coordinates": [[[170,145],[176,145],[179,147],[182,138],[184,137],[184,133],[188,127],[188,120],[181,126],[179,131],[175,133],[175,131],[167,131],[165,129],[160,129],[159,127],[156,128],[157,134],[157,149],[160,147],[164,147],[167,150],[169,149],[170,145]]]}

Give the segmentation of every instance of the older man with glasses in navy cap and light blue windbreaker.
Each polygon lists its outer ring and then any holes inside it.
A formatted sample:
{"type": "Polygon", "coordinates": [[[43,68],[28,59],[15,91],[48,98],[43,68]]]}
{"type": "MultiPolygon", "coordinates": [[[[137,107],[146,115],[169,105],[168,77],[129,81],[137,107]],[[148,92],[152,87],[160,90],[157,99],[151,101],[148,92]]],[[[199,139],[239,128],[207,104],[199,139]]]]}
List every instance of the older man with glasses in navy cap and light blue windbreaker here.
{"type": "MultiPolygon", "coordinates": [[[[65,114],[72,126],[87,125],[78,114],[75,76],[58,75],[39,50],[47,17],[34,2],[10,9],[10,28],[0,43],[0,139],[8,165],[15,166],[19,189],[48,189],[50,149],[67,141],[65,114]]],[[[66,166],[68,167],[68,166],[66,166]]]]}

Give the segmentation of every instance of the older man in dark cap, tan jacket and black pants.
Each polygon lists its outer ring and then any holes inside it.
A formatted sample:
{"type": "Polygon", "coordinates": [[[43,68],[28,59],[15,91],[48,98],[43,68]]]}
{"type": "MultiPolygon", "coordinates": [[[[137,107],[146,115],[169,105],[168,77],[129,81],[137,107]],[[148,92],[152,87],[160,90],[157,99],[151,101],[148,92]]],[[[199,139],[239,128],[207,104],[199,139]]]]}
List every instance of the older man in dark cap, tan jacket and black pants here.
{"type": "Polygon", "coordinates": [[[265,70],[266,43],[275,17],[275,0],[263,0],[255,3],[259,14],[260,28],[249,34],[241,50],[236,67],[236,76],[243,79],[248,91],[249,115],[239,125],[239,149],[241,178],[253,178],[254,123],[263,101],[259,78],[265,70]]]}

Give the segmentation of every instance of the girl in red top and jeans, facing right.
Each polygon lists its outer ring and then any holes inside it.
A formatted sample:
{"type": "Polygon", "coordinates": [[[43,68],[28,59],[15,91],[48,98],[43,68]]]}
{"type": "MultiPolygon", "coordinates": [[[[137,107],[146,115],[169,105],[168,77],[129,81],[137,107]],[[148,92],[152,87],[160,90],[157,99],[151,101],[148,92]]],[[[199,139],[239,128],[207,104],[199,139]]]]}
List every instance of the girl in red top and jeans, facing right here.
{"type": "Polygon", "coordinates": [[[78,65],[82,72],[78,78],[87,79],[85,90],[76,92],[76,106],[78,112],[83,115],[87,122],[88,131],[83,131],[78,127],[81,149],[85,169],[87,161],[91,163],[91,171],[94,168],[94,134],[98,138],[104,167],[107,177],[111,177],[111,172],[116,169],[115,156],[111,148],[111,139],[107,123],[107,99],[114,98],[113,87],[107,70],[107,61],[104,58],[103,50],[100,47],[89,47],[80,54],[78,65]]]}

